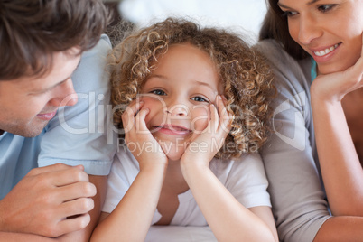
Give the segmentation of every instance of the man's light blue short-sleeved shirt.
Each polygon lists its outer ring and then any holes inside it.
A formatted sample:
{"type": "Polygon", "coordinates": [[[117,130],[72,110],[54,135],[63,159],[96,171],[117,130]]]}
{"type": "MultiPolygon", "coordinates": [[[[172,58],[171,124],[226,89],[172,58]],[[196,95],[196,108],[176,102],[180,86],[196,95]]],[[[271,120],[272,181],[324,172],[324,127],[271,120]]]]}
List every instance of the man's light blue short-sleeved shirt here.
{"type": "Polygon", "coordinates": [[[0,199],[37,166],[83,164],[88,174],[108,174],[116,152],[110,132],[112,115],[107,114],[110,90],[105,67],[110,49],[111,43],[103,35],[95,48],[82,54],[72,75],[78,103],[61,107],[41,135],[0,135],[0,199]]]}

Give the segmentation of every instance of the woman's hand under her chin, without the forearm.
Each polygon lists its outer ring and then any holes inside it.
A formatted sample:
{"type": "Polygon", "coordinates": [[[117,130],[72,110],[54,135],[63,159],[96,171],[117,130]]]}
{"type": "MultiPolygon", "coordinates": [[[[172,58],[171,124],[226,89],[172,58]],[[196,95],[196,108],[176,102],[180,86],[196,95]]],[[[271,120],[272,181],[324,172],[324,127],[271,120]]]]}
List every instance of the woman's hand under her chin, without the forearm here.
{"type": "Polygon", "coordinates": [[[362,87],[363,46],[360,58],[352,67],[340,72],[334,72],[327,75],[319,75],[312,82],[312,98],[318,98],[318,101],[327,100],[332,102],[340,102],[346,94],[362,87]]]}

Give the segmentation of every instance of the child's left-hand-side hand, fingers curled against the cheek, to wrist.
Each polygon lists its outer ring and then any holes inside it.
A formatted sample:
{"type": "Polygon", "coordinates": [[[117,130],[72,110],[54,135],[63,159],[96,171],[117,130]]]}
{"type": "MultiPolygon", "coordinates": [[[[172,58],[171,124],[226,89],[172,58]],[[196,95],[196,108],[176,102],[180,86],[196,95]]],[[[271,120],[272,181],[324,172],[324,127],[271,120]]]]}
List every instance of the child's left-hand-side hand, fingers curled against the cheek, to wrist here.
{"type": "Polygon", "coordinates": [[[168,163],[163,149],[145,124],[145,117],[148,115],[149,109],[143,109],[143,106],[144,102],[134,101],[122,115],[126,145],[139,162],[140,171],[148,165],[166,165],[168,163]],[[150,147],[152,148],[150,149],[150,147]],[[147,149],[147,152],[145,149],[147,149]]]}

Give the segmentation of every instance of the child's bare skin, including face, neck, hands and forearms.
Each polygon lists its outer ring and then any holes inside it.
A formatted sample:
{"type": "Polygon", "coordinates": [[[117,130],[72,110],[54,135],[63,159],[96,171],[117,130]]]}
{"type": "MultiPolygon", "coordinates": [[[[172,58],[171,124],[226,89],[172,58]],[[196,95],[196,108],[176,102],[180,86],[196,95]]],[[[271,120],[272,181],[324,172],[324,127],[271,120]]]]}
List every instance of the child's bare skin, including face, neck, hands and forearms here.
{"type": "Polygon", "coordinates": [[[224,140],[230,128],[219,86],[206,53],[190,44],[169,47],[144,82],[142,93],[147,95],[122,116],[127,144],[150,142],[159,148],[133,152],[140,172],[116,209],[101,214],[91,241],[144,241],[155,209],[162,215],[156,224],[169,225],[179,206],[178,194],[189,189],[219,241],[278,240],[271,209],[246,209],[209,169],[218,151],[210,148],[211,140],[224,140]],[[163,98],[165,107],[149,94],[163,98]],[[160,125],[161,114],[169,126],[160,125]],[[172,131],[170,125],[179,128],[172,131]],[[175,148],[176,138],[184,148],[175,148]],[[204,152],[193,149],[199,144],[208,144],[204,152]]]}

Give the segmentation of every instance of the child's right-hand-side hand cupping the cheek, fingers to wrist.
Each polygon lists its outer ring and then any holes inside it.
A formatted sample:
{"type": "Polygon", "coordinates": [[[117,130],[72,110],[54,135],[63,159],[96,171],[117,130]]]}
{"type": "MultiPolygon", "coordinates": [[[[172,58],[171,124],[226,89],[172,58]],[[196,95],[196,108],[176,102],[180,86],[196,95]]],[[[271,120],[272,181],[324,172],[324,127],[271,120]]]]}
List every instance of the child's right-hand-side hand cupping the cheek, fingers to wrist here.
{"type": "Polygon", "coordinates": [[[230,131],[231,116],[220,96],[216,98],[216,106],[209,105],[210,120],[207,128],[188,144],[181,157],[181,165],[203,165],[209,162],[219,152],[230,131]]]}

